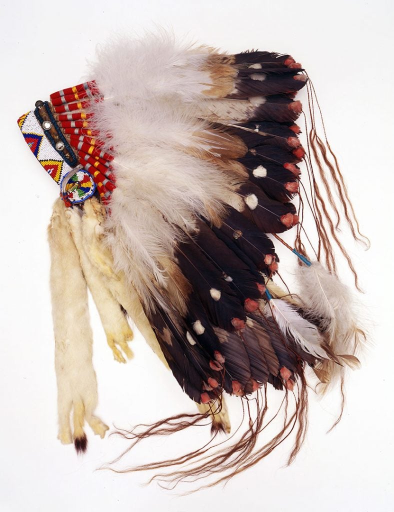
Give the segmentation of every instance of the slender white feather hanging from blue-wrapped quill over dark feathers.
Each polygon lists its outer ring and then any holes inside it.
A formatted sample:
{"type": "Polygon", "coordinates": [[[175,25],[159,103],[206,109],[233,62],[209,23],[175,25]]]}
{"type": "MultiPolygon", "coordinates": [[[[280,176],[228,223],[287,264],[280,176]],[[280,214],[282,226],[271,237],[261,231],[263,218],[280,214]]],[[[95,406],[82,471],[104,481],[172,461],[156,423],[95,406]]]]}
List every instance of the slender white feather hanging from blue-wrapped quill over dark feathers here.
{"type": "Polygon", "coordinates": [[[264,314],[273,316],[284,336],[292,336],[302,350],[319,359],[326,359],[324,338],[316,326],[302,318],[297,311],[280,299],[272,298],[264,308],[264,314]]]}

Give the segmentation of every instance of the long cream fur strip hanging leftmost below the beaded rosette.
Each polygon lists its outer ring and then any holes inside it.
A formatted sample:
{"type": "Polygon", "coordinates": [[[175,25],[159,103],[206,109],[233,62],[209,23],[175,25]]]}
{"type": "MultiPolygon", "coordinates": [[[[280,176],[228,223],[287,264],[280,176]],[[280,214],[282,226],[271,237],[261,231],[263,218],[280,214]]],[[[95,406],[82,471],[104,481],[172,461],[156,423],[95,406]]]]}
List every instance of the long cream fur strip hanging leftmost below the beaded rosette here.
{"type": "Polygon", "coordinates": [[[82,426],[85,419],[101,437],[108,427],[93,415],[97,405],[97,381],[92,364],[93,340],[87,309],[87,290],[64,209],[63,203],[57,200],[48,228],[48,238],[51,250],[58,438],[63,443],[70,443],[71,412],[74,414],[74,439],[84,436],[82,426]]]}

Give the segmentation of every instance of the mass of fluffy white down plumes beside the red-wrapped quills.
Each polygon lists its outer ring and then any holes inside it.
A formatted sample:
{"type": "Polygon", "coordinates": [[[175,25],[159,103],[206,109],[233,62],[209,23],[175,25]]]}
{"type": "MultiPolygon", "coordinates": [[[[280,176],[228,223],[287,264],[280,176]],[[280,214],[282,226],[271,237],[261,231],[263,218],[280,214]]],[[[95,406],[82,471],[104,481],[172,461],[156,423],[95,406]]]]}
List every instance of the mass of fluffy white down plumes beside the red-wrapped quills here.
{"type": "Polygon", "coordinates": [[[108,243],[116,270],[147,306],[149,294],[166,286],[177,226],[190,231],[195,214],[211,219],[231,201],[231,174],[193,156],[206,150],[204,137],[195,135],[205,123],[192,102],[209,84],[207,55],[206,48],[159,34],[106,47],[94,67],[104,96],[92,107],[95,128],[112,134],[104,150],[115,155],[117,178],[108,243]]]}

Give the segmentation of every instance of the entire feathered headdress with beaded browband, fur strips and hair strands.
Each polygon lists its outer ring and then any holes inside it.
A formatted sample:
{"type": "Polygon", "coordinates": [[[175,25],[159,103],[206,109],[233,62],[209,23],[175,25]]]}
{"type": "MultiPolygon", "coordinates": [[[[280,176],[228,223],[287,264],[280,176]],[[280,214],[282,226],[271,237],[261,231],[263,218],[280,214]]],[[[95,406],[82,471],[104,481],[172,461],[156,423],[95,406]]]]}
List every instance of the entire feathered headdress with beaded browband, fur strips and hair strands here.
{"type": "Polygon", "coordinates": [[[314,105],[308,76],[290,55],[229,55],[161,33],[103,48],[91,81],[20,117],[31,151],[60,186],[49,242],[63,443],[83,452],[85,422],[101,437],[108,429],[95,416],[87,288],[114,358],[133,357],[132,319],[198,404],[199,413],[133,431],[135,442],[208,417],[214,439],[230,432],[226,393],[256,398],[245,431],[227,447],[215,449],[212,440],[209,455],[201,449],[143,466],[171,468],[162,476],[168,481],[213,472],[213,483],[231,478],[295,430],[292,461],[307,426],[308,382],[317,377],[327,390],[343,383],[345,365],[358,365],[363,333],[336,275],[333,244],[354,269],[334,225],[344,221],[362,236],[314,114],[307,116],[309,152],[302,147],[296,95],[303,88],[314,105]],[[311,169],[307,193],[301,171],[311,169]],[[297,227],[304,204],[317,228],[314,262],[297,227]],[[294,247],[278,236],[288,230],[294,247]],[[294,295],[274,281],[277,241],[298,258],[294,295]],[[63,286],[70,281],[72,293],[63,286]],[[284,421],[261,447],[273,388],[283,394],[284,421]]]}

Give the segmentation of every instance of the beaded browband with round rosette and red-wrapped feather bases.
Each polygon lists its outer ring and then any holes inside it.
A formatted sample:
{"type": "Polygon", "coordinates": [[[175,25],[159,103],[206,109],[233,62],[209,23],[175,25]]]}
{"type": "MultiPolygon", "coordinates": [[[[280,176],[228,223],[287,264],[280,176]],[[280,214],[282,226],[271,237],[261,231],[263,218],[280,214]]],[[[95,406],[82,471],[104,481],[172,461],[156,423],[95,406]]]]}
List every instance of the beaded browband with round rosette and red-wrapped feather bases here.
{"type": "Polygon", "coordinates": [[[94,81],[51,94],[49,102],[37,101],[35,110],[18,119],[32,153],[60,185],[67,206],[95,193],[106,203],[115,188],[114,157],[101,150],[103,139],[92,127],[92,101],[102,101],[94,81]]]}

